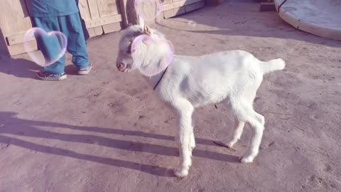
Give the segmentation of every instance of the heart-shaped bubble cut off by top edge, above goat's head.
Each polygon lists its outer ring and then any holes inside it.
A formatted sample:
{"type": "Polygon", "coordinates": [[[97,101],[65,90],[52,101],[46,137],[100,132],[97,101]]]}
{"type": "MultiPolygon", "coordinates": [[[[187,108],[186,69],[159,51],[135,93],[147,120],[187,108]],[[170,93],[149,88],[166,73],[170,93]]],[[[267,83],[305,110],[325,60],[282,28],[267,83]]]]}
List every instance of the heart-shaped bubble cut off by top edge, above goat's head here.
{"type": "Polygon", "coordinates": [[[163,11],[161,0],[135,0],[134,6],[139,17],[147,22],[154,21],[163,11]]]}

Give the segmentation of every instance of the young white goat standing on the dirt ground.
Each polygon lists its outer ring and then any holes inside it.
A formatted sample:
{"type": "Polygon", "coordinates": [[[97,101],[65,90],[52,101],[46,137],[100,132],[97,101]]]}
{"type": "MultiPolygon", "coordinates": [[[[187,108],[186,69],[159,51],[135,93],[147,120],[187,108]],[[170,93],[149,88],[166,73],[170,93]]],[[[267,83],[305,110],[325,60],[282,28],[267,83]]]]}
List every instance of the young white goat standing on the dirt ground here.
{"type": "MultiPolygon", "coordinates": [[[[166,38],[155,29],[144,24],[129,26],[123,31],[119,43],[117,68],[128,72],[134,68],[148,70],[160,65],[168,56],[170,48],[142,41],[131,53],[131,43],[141,35],[154,40],[166,38]]],[[[175,55],[166,70],[153,76],[145,76],[158,93],[160,100],[171,106],[178,117],[178,135],[175,137],[180,151],[180,164],[174,174],[188,175],[192,164],[195,138],[192,114],[195,107],[224,102],[235,114],[234,132],[222,143],[232,147],[241,137],[244,123],[251,125],[253,135],[249,149],[241,158],[242,163],[251,163],[259,153],[259,145],[264,131],[264,117],[252,106],[256,90],[261,85],[263,75],[274,70],[283,70],[281,59],[263,62],[244,50],[230,50],[198,57],[175,55]]]]}

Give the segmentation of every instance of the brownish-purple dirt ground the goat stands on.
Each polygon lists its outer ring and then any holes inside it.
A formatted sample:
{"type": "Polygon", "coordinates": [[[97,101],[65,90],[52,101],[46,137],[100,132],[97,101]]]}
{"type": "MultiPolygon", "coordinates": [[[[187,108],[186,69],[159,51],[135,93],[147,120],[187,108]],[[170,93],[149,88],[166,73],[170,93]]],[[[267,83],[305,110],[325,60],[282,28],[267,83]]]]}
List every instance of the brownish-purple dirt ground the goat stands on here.
{"type": "Polygon", "coordinates": [[[265,76],[254,104],[266,118],[254,163],[238,161],[249,127],[237,151],[213,143],[233,122],[222,105],[207,105],[194,114],[190,174],[175,178],[175,116],[138,71],[117,71],[120,33],[111,33],[88,42],[90,75],[69,64],[61,82],[36,80],[40,68],[27,55],[1,57],[1,192],[341,191],[341,41],[298,31],[251,0],[153,27],[179,55],[242,49],[286,60],[285,70],[265,76]]]}

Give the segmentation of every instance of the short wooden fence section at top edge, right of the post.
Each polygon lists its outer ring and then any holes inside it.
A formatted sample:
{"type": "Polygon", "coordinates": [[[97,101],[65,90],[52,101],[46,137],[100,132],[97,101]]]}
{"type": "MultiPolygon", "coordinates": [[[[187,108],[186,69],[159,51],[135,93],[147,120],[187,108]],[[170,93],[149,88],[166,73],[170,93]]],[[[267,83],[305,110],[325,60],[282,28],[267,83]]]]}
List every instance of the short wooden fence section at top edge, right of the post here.
{"type": "Polygon", "coordinates": [[[205,6],[205,0],[165,0],[163,18],[170,18],[205,6]]]}

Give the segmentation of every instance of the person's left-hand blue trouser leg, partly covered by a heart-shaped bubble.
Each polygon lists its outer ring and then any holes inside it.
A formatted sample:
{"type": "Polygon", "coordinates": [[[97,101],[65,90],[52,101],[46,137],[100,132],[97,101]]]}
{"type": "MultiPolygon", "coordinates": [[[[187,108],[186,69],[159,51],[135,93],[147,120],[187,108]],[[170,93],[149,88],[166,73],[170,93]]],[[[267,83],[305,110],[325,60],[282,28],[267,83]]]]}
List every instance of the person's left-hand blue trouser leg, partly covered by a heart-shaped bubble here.
{"type": "MultiPolygon", "coordinates": [[[[56,17],[31,17],[33,27],[42,28],[47,33],[50,31],[60,31],[58,19],[56,17]]],[[[56,51],[55,45],[58,44],[58,38],[47,38],[45,36],[36,36],[38,48],[45,58],[52,58],[56,51]]],[[[44,68],[45,73],[53,75],[63,75],[65,68],[65,56],[63,55],[58,61],[44,68]]],[[[43,72],[40,72],[43,73],[43,72]]],[[[39,75],[39,74],[38,74],[39,75]]],[[[66,77],[66,76],[65,76],[66,77]]]]}

